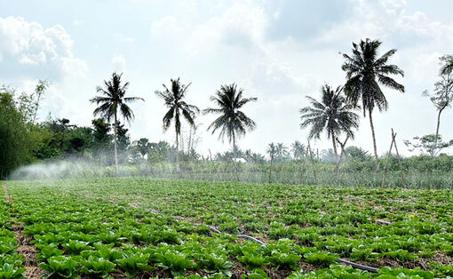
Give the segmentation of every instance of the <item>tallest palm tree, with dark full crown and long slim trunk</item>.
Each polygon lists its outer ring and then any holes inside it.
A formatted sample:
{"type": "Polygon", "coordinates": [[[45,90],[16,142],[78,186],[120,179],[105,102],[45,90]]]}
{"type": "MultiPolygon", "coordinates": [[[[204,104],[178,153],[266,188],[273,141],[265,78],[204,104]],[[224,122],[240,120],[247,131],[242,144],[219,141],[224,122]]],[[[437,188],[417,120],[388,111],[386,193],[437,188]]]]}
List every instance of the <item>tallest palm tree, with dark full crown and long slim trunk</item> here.
{"type": "Polygon", "coordinates": [[[396,52],[392,49],[377,58],[377,49],[382,42],[378,40],[361,40],[360,44],[353,43],[353,55],[343,53],[345,63],[341,67],[346,72],[345,92],[347,100],[354,106],[362,100],[363,116],[370,116],[371,134],[373,137],[374,155],[377,159],[376,135],[374,132],[372,112],[377,107],[379,111],[388,108],[387,100],[379,85],[404,92],[404,86],[398,84],[388,75],[401,75],[404,72],[396,65],[388,65],[387,60],[396,52]]]}

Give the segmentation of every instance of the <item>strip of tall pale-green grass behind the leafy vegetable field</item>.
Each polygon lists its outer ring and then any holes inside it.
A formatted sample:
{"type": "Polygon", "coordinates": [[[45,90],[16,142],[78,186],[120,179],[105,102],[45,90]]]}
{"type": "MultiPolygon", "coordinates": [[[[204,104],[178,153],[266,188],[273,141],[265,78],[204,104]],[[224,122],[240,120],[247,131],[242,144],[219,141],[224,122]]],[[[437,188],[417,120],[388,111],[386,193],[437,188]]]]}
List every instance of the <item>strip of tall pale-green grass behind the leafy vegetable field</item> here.
{"type": "MultiPolygon", "coordinates": [[[[223,163],[223,162],[181,162],[175,163],[124,164],[119,176],[151,177],[155,179],[190,179],[205,181],[229,181],[242,183],[280,183],[302,185],[328,185],[341,187],[390,187],[415,189],[453,189],[451,168],[427,170],[407,167],[402,171],[384,167],[376,171],[376,163],[359,167],[342,165],[334,171],[332,163],[290,162],[275,163],[223,163]]],[[[43,163],[24,167],[16,171],[12,179],[68,179],[117,177],[115,166],[99,166],[83,162],[43,163]]]]}

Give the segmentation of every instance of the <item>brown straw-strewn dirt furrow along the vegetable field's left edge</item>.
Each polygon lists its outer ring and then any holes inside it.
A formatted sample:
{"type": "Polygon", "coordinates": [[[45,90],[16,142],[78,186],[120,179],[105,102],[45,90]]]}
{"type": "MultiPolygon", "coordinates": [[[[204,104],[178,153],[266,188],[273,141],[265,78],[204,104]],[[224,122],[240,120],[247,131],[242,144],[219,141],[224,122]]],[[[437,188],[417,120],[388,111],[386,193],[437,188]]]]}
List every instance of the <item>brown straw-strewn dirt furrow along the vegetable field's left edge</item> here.
{"type": "MultiPolygon", "coordinates": [[[[14,201],[12,200],[11,196],[8,195],[8,187],[6,187],[6,182],[3,182],[3,190],[4,190],[4,200],[6,203],[10,203],[12,208],[14,207],[14,201]]],[[[13,209],[12,209],[13,211],[13,209]]],[[[25,259],[24,266],[27,270],[23,273],[23,275],[27,278],[41,278],[42,275],[45,274],[45,271],[38,267],[38,263],[36,261],[36,253],[38,250],[35,246],[30,245],[30,241],[32,237],[27,235],[23,235],[24,224],[14,222],[12,224],[12,231],[14,232],[14,236],[17,239],[19,247],[16,249],[17,253],[22,255],[25,259]]]]}

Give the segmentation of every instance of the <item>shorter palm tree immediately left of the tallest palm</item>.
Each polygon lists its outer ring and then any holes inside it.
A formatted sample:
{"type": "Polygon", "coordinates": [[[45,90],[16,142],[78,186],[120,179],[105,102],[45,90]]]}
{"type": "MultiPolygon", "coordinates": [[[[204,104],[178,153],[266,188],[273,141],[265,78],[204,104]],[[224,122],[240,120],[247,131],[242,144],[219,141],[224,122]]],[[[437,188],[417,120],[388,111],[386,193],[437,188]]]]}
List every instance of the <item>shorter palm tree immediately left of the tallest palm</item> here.
{"type": "Polygon", "coordinates": [[[343,89],[338,86],[334,91],[329,84],[324,84],[321,88],[322,100],[318,101],[307,96],[311,107],[300,109],[301,128],[311,126],[308,140],[320,139],[323,131],[327,132],[327,137],[332,140],[333,151],[338,156],[336,140],[340,133],[354,138],[353,129],[359,127],[359,116],[346,103],[346,98],[341,94],[343,89]]]}

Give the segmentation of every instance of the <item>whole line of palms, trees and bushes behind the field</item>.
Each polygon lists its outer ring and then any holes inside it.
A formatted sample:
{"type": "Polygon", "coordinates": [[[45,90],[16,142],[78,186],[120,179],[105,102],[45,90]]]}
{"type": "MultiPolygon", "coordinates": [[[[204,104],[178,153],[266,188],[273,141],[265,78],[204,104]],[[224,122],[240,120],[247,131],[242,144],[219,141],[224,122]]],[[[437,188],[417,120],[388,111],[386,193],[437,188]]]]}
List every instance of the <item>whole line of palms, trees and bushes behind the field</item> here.
{"type": "MultiPolygon", "coordinates": [[[[34,92],[16,92],[12,87],[0,88],[0,177],[6,177],[13,169],[26,163],[82,157],[106,165],[115,164],[116,171],[121,163],[160,163],[164,161],[223,161],[270,163],[323,162],[339,163],[349,160],[372,162],[373,156],[360,147],[347,147],[348,140],[354,140],[359,128],[359,110],[370,120],[374,162],[377,168],[381,158],[377,153],[377,140],[373,124],[373,112],[385,111],[388,102],[381,87],[404,92],[404,86],[392,76],[404,76],[404,72],[388,60],[396,52],[392,49],[378,55],[381,42],[362,40],[353,43],[352,54],[343,53],[342,70],[346,74],[345,84],[332,87],[323,84],[321,98],[308,96],[308,106],[300,109],[300,127],[309,129],[306,145],[295,141],[290,147],[283,143],[270,143],[266,155],[251,150],[242,151],[238,140],[252,131],[256,123],[242,108],[257,98],[245,97],[237,84],[221,85],[211,96],[212,108],[200,109],[187,103],[189,84],[182,84],[179,78],[171,79],[169,86],[163,84],[162,91],[155,95],[163,100],[167,108],[162,118],[163,131],[173,127],[175,144],[165,141],[149,142],[146,138],[131,141],[125,124],[131,124],[134,114],[129,105],[144,101],[130,97],[129,83],[122,80],[122,74],[113,73],[111,78],[96,88],[97,96],[90,101],[97,108],[93,111],[90,126],[71,124],[67,118],[48,117],[37,122],[40,102],[51,83],[40,80],[34,92]],[[219,140],[231,144],[231,150],[220,154],[200,155],[196,151],[197,116],[199,113],[217,116],[208,126],[213,134],[219,133],[219,140]],[[185,124],[184,124],[185,123],[185,124]],[[187,128],[188,132],[184,129],[187,128]],[[322,133],[331,140],[332,148],[317,150],[312,140],[321,140],[322,133]]],[[[441,150],[453,145],[453,140],[443,141],[440,133],[441,113],[451,106],[453,100],[453,55],[440,58],[439,81],[433,92],[425,91],[437,111],[435,132],[404,140],[409,150],[418,150],[432,157],[441,155],[441,150]]],[[[390,155],[390,152],[388,154],[390,155]]],[[[357,164],[358,165],[358,164],[357,164]]],[[[392,165],[390,166],[392,167],[392,165]]]]}

